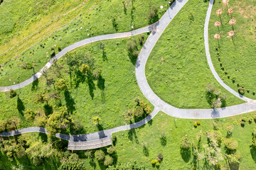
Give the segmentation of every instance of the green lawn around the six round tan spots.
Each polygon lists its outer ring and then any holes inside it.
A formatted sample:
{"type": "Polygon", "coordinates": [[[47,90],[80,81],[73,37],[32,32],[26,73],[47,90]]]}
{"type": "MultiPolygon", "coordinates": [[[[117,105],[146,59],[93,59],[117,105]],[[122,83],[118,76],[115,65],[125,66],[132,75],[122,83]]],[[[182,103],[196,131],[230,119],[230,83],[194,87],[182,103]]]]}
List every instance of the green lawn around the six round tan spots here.
{"type": "Polygon", "coordinates": [[[245,96],[255,99],[253,91],[255,88],[255,67],[256,67],[256,34],[255,34],[255,1],[230,1],[228,8],[233,8],[232,18],[236,19],[233,26],[235,36],[228,38],[228,32],[233,30],[228,24],[231,16],[227,13],[227,7],[222,1],[215,1],[209,23],[209,45],[210,55],[216,72],[221,79],[235,91],[244,86],[245,96]],[[221,16],[217,16],[215,11],[223,9],[221,16]],[[215,28],[215,21],[222,21],[221,26],[215,28]],[[221,38],[215,40],[213,36],[219,33],[221,38]],[[218,59],[220,57],[220,59],[218,59]],[[220,62],[224,70],[221,69],[220,62]],[[229,78],[228,78],[229,76],[229,78]],[[235,81],[233,81],[233,79],[235,81]],[[247,91],[249,90],[249,91],[247,91]]]}

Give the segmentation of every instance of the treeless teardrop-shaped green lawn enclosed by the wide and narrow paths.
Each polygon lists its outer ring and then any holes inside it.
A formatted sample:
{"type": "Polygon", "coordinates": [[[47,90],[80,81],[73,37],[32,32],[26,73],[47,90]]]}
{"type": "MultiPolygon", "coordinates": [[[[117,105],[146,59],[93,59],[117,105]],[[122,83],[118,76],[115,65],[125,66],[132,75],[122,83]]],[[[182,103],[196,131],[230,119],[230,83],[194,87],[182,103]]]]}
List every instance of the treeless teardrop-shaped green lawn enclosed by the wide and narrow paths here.
{"type": "Polygon", "coordinates": [[[178,108],[210,108],[206,85],[227,95],[226,105],[242,103],[213,77],[206,60],[203,26],[208,2],[191,0],[166,28],[146,64],[149,86],[178,108]]]}

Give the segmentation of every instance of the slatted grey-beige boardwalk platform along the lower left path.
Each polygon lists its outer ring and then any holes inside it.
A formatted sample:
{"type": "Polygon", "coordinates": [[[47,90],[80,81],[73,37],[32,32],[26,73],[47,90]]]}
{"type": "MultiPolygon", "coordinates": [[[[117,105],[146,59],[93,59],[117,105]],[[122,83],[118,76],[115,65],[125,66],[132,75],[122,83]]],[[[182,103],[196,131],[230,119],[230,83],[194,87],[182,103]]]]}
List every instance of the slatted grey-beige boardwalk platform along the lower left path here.
{"type": "Polygon", "coordinates": [[[100,140],[90,140],[85,142],[68,142],[68,150],[90,150],[112,145],[111,136],[100,140]]]}

